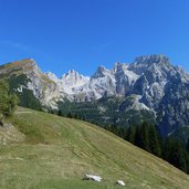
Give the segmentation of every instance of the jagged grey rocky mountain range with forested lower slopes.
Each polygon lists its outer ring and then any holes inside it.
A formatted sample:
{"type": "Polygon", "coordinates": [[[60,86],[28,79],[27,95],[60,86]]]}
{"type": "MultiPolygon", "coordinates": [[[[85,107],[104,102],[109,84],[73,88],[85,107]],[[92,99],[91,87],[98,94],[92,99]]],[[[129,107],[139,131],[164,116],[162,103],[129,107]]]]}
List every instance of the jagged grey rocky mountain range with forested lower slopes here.
{"type": "Polygon", "coordinates": [[[1,65],[0,78],[8,78],[22,106],[72,113],[103,126],[146,120],[164,136],[189,126],[189,74],[165,55],[99,66],[91,77],[70,71],[60,78],[27,59],[1,65]]]}

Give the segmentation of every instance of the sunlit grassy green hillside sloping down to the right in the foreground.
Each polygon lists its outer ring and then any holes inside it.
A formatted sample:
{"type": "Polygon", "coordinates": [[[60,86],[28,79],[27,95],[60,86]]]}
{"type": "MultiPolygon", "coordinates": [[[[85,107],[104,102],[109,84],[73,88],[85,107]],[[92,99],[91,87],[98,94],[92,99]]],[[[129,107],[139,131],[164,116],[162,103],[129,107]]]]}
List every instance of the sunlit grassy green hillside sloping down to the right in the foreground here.
{"type": "Polygon", "coordinates": [[[27,108],[7,123],[25,136],[0,146],[1,189],[119,188],[117,179],[126,188],[189,186],[188,175],[95,125],[27,108]]]}

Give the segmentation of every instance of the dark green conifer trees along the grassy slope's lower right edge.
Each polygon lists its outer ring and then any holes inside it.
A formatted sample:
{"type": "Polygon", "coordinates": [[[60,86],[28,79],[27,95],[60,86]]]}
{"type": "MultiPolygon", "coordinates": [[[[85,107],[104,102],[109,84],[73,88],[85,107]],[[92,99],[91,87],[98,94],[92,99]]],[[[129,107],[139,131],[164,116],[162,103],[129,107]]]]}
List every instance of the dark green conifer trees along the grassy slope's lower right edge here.
{"type": "Polygon", "coordinates": [[[162,138],[155,125],[145,122],[127,129],[114,125],[106,126],[105,129],[189,174],[189,139],[185,145],[174,137],[162,138]]]}

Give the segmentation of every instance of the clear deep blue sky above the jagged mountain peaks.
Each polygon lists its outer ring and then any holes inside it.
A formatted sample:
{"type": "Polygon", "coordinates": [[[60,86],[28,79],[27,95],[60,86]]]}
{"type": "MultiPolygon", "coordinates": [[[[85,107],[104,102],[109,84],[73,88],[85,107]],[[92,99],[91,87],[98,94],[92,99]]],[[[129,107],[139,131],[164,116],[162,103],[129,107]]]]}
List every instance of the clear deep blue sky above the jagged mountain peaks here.
{"type": "Polygon", "coordinates": [[[189,0],[0,0],[0,64],[91,75],[146,54],[189,71],[189,0]]]}

